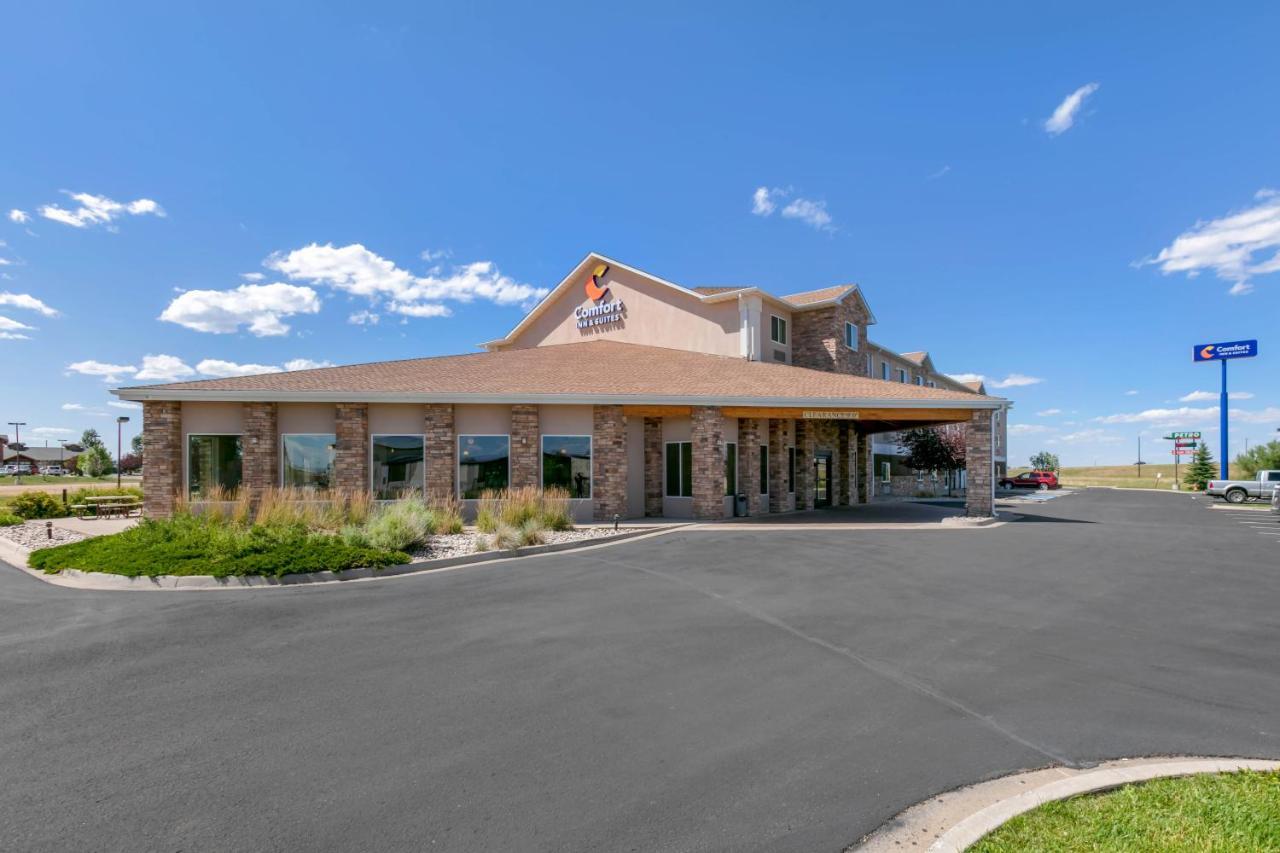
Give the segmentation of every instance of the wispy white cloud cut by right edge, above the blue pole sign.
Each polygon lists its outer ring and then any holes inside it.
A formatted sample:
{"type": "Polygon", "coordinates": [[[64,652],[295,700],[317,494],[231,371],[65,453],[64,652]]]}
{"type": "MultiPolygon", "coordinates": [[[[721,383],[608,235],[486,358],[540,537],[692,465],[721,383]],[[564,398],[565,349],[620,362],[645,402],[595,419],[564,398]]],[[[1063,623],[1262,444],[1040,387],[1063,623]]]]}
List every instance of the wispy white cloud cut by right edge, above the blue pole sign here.
{"type": "Polygon", "coordinates": [[[1224,282],[1233,282],[1231,296],[1251,292],[1251,277],[1280,272],[1280,193],[1260,190],[1254,200],[1258,204],[1252,207],[1197,222],[1155,259],[1138,265],[1158,264],[1166,275],[1187,273],[1188,278],[1212,270],[1224,282]],[[1272,250],[1270,257],[1254,257],[1272,250]]]}

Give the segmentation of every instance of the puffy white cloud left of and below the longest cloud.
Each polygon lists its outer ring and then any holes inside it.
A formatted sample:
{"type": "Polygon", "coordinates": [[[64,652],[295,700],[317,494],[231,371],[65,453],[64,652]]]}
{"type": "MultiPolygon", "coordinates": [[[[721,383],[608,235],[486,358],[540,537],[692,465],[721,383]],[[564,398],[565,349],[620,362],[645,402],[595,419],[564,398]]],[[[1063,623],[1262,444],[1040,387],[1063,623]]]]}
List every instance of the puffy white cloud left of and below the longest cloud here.
{"type": "Polygon", "coordinates": [[[320,311],[320,295],[297,284],[241,284],[230,291],[186,291],[160,314],[161,320],[214,334],[247,325],[257,337],[288,334],[282,318],[320,311]]]}

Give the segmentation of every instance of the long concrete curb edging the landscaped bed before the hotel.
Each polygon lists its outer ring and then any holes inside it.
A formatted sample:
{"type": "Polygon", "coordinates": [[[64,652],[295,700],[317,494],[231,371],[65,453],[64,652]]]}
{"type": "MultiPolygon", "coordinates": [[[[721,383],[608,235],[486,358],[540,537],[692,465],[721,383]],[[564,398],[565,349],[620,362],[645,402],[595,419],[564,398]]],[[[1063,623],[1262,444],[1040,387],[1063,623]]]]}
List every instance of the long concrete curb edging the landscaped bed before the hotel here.
{"type": "Polygon", "coordinates": [[[516,551],[481,551],[458,557],[444,557],[440,560],[417,560],[398,566],[385,569],[347,569],[343,571],[312,571],[306,574],[283,575],[271,578],[264,575],[237,575],[229,578],[214,578],[211,575],[155,575],[129,578],[127,575],[113,575],[102,571],[79,571],[78,569],[64,569],[58,574],[46,574],[27,567],[27,552],[6,542],[0,540],[0,558],[18,571],[26,573],[37,580],[54,587],[67,587],[72,589],[92,589],[105,592],[186,592],[186,590],[228,590],[228,589],[279,589],[289,587],[317,587],[342,585],[362,580],[381,580],[384,578],[402,578],[406,575],[425,574],[448,569],[462,569],[481,562],[500,562],[508,560],[521,560],[524,557],[536,557],[539,555],[556,553],[559,551],[585,551],[590,548],[603,548],[626,542],[657,537],[681,530],[684,525],[669,525],[663,528],[640,528],[627,530],[612,537],[598,539],[580,539],[576,542],[558,542],[556,544],[530,546],[516,551]]]}

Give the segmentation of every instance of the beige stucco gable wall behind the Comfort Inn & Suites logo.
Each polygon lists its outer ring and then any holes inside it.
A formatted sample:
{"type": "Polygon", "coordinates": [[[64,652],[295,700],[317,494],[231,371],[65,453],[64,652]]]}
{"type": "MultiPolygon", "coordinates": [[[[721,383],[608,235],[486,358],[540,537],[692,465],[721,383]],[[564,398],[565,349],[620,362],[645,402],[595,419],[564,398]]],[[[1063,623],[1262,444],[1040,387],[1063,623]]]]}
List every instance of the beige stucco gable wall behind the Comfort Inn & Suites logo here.
{"type": "Polygon", "coordinates": [[[604,298],[622,300],[627,309],[625,319],[614,324],[577,328],[573,309],[594,305],[584,289],[589,272],[549,304],[508,346],[522,348],[603,338],[716,355],[740,353],[736,300],[707,304],[616,266],[604,275],[609,286],[609,295],[604,298]]]}

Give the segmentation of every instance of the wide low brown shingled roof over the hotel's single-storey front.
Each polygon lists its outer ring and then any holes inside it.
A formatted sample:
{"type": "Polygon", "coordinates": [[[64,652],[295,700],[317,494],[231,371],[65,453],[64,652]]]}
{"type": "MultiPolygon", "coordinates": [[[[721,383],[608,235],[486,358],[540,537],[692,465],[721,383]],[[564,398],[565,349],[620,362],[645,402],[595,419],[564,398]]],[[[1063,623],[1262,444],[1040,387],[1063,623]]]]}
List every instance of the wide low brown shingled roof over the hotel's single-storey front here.
{"type": "MultiPolygon", "coordinates": [[[[253,377],[174,382],[122,388],[125,400],[388,400],[406,402],[492,401],[582,402],[602,398],[636,398],[643,402],[700,401],[707,405],[785,406],[851,401],[884,405],[946,405],[973,402],[973,394],[827,373],[794,365],[746,361],[730,356],[662,347],[585,341],[525,350],[499,350],[471,355],[374,361],[340,368],[319,368],[253,377]],[[173,397],[166,394],[173,393],[173,397]],[[227,394],[221,396],[220,394],[227,394]],[[741,402],[737,402],[741,401],[741,402]]],[[[614,400],[617,401],[617,400],[614,400]]]]}

